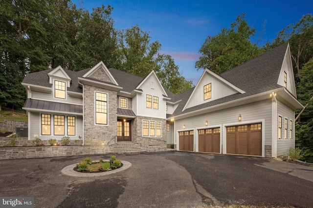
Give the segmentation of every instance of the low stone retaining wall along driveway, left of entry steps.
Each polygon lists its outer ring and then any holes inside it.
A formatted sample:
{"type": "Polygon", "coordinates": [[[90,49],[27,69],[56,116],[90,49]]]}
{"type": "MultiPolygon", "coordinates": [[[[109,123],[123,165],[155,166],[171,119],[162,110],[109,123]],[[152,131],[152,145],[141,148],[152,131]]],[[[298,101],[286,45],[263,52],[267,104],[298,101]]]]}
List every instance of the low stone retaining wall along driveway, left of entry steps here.
{"type": "Polygon", "coordinates": [[[0,148],[0,160],[106,154],[108,152],[109,148],[104,146],[13,147],[0,148]]]}

